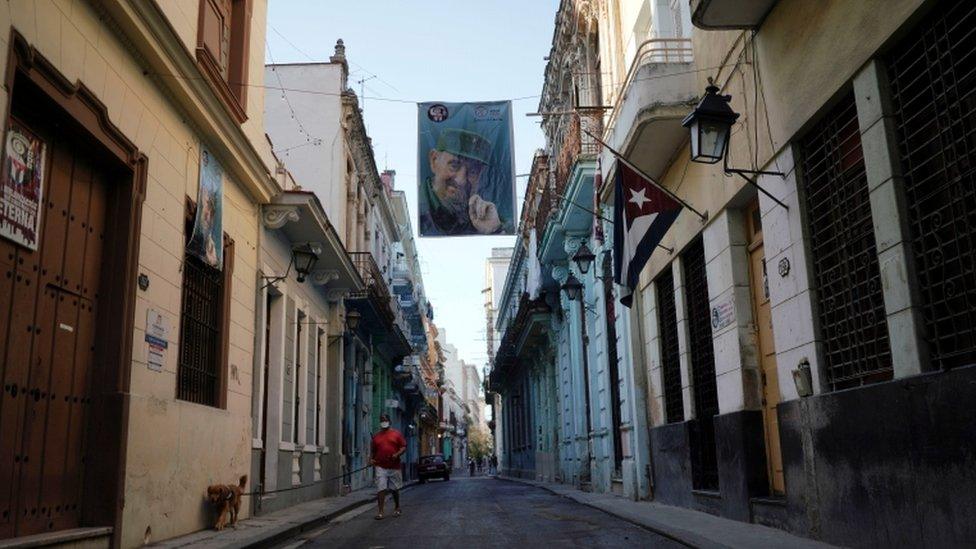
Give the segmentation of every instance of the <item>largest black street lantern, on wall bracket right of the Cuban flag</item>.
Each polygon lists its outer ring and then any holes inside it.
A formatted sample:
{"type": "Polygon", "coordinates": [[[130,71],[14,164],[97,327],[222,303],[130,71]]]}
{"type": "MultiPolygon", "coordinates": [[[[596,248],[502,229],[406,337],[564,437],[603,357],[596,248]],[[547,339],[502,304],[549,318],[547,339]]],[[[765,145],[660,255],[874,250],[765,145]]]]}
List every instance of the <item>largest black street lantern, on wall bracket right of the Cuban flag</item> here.
{"type": "Polygon", "coordinates": [[[711,78],[705,88],[705,96],[695,110],[682,120],[681,125],[691,129],[691,160],[703,164],[715,164],[725,156],[729,145],[732,124],[739,113],[732,110],[731,95],[719,95],[718,86],[711,78]]]}

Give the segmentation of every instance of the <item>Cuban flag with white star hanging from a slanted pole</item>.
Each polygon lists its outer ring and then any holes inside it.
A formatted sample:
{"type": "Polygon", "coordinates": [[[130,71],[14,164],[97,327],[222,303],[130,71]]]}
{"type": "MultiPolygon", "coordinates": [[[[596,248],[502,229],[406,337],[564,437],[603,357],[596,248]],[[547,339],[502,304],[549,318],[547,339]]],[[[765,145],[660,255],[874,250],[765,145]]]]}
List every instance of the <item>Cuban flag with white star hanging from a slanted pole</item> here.
{"type": "Polygon", "coordinates": [[[681,213],[681,204],[617,161],[613,201],[613,280],[630,307],[640,272],[681,213]]]}

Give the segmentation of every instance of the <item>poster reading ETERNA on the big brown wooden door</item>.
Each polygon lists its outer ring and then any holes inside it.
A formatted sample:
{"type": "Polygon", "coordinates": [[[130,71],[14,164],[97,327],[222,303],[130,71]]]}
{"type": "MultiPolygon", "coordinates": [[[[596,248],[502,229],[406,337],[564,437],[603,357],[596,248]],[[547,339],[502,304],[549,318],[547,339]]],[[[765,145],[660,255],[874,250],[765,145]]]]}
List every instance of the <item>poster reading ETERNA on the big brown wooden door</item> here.
{"type": "Polygon", "coordinates": [[[45,144],[16,120],[7,126],[0,185],[0,236],[37,249],[45,144]]]}

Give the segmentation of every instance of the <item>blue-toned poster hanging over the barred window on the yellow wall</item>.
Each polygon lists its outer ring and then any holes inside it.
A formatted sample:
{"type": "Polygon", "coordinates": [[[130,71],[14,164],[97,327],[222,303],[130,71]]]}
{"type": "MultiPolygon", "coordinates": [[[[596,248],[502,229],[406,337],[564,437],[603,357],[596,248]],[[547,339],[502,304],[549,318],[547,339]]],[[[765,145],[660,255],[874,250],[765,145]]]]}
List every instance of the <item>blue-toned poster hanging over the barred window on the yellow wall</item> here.
{"type": "Polygon", "coordinates": [[[193,236],[186,249],[215,269],[224,264],[223,235],[224,171],[207,149],[200,150],[200,192],[193,220],[193,236]]]}

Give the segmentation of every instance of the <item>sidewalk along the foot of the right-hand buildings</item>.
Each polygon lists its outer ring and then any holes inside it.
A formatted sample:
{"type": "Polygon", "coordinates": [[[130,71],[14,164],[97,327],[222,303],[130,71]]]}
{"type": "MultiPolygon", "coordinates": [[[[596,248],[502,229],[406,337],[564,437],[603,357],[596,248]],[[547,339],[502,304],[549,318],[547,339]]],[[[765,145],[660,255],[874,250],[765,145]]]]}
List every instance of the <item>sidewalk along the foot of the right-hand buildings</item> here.
{"type": "Polygon", "coordinates": [[[833,547],[819,541],[794,536],[783,530],[759,524],[740,522],[684,507],[673,507],[651,501],[632,501],[613,494],[583,492],[566,484],[536,482],[507,476],[500,480],[537,486],[572,499],[583,505],[642,526],[689,547],[826,549],[833,547]]]}

